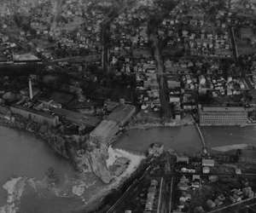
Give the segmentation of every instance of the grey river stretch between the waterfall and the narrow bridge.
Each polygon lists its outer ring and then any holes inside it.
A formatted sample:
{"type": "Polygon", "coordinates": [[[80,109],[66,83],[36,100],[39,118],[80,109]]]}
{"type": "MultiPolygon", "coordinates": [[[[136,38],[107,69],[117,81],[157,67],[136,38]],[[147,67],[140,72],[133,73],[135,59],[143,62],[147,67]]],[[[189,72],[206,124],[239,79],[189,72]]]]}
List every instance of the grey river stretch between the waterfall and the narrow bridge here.
{"type": "Polygon", "coordinates": [[[128,130],[113,147],[144,153],[154,142],[162,143],[166,150],[173,149],[179,153],[193,154],[201,151],[200,137],[193,125],[128,130]]]}

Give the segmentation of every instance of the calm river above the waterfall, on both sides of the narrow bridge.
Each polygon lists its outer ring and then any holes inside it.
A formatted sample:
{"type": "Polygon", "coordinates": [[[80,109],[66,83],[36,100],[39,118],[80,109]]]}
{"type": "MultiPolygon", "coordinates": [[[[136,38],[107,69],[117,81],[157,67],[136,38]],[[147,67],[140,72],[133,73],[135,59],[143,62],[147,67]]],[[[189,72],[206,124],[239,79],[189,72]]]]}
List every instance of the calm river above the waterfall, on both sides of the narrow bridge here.
{"type": "MultiPolygon", "coordinates": [[[[209,147],[232,144],[251,144],[256,146],[256,127],[203,127],[202,134],[209,147]]],[[[201,151],[201,140],[194,125],[161,127],[148,130],[128,130],[113,147],[131,152],[145,153],[151,143],[161,142],[166,150],[174,149],[179,153],[201,151]]]]}

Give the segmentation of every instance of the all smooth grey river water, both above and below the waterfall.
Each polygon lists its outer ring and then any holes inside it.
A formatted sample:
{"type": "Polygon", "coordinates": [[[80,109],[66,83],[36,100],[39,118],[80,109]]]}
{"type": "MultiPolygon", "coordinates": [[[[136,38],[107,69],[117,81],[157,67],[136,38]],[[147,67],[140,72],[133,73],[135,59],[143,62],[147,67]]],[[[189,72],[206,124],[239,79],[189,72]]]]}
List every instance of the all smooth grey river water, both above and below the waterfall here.
{"type": "MultiPolygon", "coordinates": [[[[248,143],[256,146],[255,127],[206,127],[202,129],[210,147],[230,144],[248,143]]],[[[6,204],[7,192],[1,187],[11,177],[26,176],[41,180],[49,167],[64,178],[77,174],[67,160],[59,158],[44,143],[33,135],[0,126],[0,206],[6,204]]],[[[154,128],[148,130],[129,130],[122,135],[113,147],[135,153],[143,153],[153,142],[161,142],[165,149],[174,149],[180,153],[197,153],[201,151],[201,141],[194,125],[180,127],[154,128]]],[[[95,177],[90,178],[95,181],[95,177]]],[[[99,185],[100,186],[100,185],[99,185]]],[[[87,196],[92,193],[88,188],[87,196]]],[[[96,190],[98,190],[96,188],[96,190]]],[[[95,190],[95,191],[96,191],[95,190]]],[[[53,194],[29,193],[26,190],[20,201],[21,213],[70,213],[82,206],[81,199],[59,198],[53,194]]]]}

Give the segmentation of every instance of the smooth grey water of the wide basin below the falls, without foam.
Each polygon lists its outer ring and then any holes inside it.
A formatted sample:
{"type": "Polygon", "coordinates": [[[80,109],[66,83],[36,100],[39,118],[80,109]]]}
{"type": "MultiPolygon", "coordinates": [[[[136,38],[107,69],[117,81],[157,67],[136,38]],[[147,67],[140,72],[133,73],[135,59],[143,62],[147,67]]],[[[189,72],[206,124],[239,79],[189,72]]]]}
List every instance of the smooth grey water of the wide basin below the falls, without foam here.
{"type": "MultiPolygon", "coordinates": [[[[76,176],[73,166],[67,160],[59,158],[44,143],[33,135],[0,126],[0,206],[7,202],[7,191],[3,184],[13,177],[34,178],[42,180],[49,167],[54,168],[57,176],[76,176]]],[[[82,205],[78,198],[57,198],[45,190],[38,195],[26,188],[21,197],[20,212],[24,213],[70,213],[82,205]],[[72,210],[71,210],[72,209],[72,210]]]]}

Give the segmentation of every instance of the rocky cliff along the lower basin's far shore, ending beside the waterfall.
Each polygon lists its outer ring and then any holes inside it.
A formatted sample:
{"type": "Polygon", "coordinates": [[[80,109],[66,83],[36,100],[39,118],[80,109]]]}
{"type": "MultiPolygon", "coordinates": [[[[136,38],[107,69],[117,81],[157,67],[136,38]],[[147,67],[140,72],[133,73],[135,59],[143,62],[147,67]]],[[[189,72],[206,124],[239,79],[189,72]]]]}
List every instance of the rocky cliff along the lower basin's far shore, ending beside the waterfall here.
{"type": "Polygon", "coordinates": [[[60,130],[49,128],[44,124],[36,124],[19,116],[8,121],[1,118],[1,124],[20,130],[30,131],[44,141],[63,158],[67,158],[81,172],[93,172],[104,183],[112,180],[106,164],[108,147],[90,141],[87,135],[65,135],[60,130]]]}

